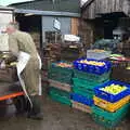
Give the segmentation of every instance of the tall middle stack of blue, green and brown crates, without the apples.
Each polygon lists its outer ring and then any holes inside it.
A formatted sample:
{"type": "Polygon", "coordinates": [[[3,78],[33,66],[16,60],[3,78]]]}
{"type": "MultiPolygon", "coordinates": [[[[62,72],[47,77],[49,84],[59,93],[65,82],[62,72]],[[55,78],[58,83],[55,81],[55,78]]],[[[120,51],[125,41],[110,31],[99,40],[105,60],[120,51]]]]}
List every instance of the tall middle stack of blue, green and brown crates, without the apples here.
{"type": "Polygon", "coordinates": [[[94,65],[80,63],[80,61],[81,58],[74,62],[75,69],[74,69],[74,78],[73,78],[74,86],[73,86],[73,94],[72,94],[73,107],[83,112],[91,113],[91,107],[94,104],[93,103],[94,88],[109,80],[110,63],[109,62],[105,63],[106,69],[104,69],[98,66],[95,68],[94,65]]]}

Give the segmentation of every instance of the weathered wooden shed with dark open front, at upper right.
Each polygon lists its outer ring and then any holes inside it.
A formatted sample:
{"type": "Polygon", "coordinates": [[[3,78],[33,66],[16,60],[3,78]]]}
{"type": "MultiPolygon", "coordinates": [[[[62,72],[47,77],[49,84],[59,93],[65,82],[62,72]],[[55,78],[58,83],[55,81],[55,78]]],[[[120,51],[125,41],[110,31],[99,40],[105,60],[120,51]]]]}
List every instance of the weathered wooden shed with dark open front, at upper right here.
{"type": "Polygon", "coordinates": [[[98,39],[113,39],[113,30],[118,26],[130,27],[130,0],[88,0],[81,16],[81,28],[90,47],[98,39]]]}

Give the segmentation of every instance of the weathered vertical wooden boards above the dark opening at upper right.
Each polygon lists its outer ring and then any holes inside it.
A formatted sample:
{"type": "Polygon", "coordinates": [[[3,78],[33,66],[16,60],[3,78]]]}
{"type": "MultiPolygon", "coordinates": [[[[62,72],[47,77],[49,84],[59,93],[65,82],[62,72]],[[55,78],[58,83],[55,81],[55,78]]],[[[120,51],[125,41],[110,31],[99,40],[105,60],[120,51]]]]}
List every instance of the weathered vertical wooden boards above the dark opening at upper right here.
{"type": "Polygon", "coordinates": [[[82,8],[83,18],[95,18],[98,14],[123,12],[130,16],[130,0],[89,0],[82,8]]]}

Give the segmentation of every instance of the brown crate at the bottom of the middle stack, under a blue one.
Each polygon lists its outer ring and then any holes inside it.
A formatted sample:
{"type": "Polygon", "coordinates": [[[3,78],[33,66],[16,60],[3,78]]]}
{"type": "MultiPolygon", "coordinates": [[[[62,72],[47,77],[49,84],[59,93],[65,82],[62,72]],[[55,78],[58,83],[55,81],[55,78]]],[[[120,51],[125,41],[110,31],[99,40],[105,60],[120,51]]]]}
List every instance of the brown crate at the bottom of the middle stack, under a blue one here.
{"type": "Polygon", "coordinates": [[[72,101],[72,103],[73,103],[74,108],[77,108],[81,112],[89,113],[89,114],[92,113],[91,107],[88,106],[88,105],[84,105],[84,104],[81,104],[81,103],[78,103],[78,102],[75,102],[75,101],[72,101]]]}

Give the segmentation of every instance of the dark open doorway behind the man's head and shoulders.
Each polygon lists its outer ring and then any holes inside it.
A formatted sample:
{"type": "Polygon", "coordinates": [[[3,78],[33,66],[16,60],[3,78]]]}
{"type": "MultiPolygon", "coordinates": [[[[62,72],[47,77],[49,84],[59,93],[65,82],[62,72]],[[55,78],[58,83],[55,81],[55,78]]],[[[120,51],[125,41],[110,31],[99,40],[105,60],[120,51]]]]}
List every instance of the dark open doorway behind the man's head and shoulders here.
{"type": "Polygon", "coordinates": [[[34,14],[15,14],[15,20],[20,23],[20,29],[29,32],[38,47],[42,47],[42,24],[41,16],[34,14]]]}

